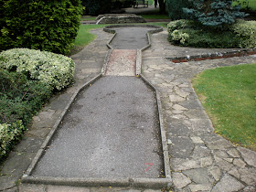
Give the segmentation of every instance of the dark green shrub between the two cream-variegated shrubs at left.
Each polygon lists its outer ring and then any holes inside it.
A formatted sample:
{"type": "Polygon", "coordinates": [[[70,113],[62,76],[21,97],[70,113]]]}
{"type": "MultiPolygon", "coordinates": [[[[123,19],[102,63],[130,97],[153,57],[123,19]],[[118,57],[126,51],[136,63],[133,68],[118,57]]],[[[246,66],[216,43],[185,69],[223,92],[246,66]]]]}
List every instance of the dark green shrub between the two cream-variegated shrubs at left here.
{"type": "Polygon", "coordinates": [[[0,123],[22,120],[27,125],[51,94],[45,83],[27,80],[23,73],[0,69],[0,82],[0,123]]]}

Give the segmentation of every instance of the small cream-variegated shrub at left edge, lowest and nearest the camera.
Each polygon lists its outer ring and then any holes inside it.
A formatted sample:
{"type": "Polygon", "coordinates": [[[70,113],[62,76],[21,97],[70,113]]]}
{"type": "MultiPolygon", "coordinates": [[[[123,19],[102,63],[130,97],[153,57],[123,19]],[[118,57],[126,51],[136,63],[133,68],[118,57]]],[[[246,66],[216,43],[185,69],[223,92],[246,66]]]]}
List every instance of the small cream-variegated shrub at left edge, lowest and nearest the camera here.
{"type": "Polygon", "coordinates": [[[21,136],[26,128],[22,121],[16,123],[0,123],[0,159],[8,153],[13,143],[21,136]]]}

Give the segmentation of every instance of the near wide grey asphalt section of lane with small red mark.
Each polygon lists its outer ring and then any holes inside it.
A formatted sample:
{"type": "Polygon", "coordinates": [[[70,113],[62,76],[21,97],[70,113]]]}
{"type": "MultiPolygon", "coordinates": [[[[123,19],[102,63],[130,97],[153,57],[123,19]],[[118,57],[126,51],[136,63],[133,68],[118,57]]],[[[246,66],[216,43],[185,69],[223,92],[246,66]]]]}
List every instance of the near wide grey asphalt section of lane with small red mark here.
{"type": "Polygon", "coordinates": [[[157,178],[163,168],[155,92],[136,77],[81,91],[32,176],[157,178]]]}

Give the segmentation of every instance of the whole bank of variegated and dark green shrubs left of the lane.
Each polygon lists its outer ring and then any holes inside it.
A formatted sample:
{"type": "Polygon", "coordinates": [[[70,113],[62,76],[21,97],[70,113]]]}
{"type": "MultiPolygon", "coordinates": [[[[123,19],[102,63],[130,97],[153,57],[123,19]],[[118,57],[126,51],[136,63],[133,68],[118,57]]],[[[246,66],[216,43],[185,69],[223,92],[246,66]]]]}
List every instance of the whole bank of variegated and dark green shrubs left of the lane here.
{"type": "Polygon", "coordinates": [[[0,53],[0,159],[54,89],[69,85],[73,72],[71,59],[47,51],[14,48],[0,53]]]}

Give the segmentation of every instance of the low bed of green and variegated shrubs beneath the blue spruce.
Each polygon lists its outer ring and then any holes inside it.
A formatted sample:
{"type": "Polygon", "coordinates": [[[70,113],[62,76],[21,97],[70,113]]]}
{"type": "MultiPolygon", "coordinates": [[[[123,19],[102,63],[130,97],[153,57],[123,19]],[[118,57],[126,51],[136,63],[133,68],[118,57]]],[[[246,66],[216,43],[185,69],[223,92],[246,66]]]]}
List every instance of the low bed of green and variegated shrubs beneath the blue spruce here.
{"type": "Polygon", "coordinates": [[[194,48],[256,48],[255,21],[239,20],[228,30],[206,30],[199,23],[177,20],[168,24],[168,40],[194,48]]]}

